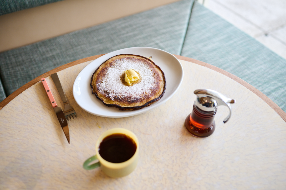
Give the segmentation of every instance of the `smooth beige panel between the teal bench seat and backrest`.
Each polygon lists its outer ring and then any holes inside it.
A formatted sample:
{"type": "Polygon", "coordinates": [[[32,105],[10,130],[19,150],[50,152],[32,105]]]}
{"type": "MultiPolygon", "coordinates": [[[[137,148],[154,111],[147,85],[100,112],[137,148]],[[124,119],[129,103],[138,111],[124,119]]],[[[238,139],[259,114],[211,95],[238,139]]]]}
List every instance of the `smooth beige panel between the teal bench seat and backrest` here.
{"type": "Polygon", "coordinates": [[[178,0],[64,0],[0,16],[0,52],[178,0]]]}

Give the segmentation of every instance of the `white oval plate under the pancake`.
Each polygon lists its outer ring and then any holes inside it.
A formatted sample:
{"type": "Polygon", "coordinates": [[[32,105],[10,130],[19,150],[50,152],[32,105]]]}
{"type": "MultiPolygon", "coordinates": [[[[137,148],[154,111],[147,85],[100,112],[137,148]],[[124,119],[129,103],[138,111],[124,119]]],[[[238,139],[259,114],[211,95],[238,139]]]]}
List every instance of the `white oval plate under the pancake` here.
{"type": "Polygon", "coordinates": [[[183,75],[183,67],[179,60],[164,50],[149,47],[125,48],[110,52],[97,58],[88,64],[82,71],[80,71],[76,77],[76,80],[74,81],[73,94],[76,103],[78,103],[82,109],[93,115],[98,115],[101,117],[129,117],[149,111],[170,99],[180,87],[183,81],[183,75]],[[160,100],[142,109],[122,111],[117,108],[104,105],[99,99],[96,98],[96,95],[92,94],[90,81],[94,71],[103,62],[119,54],[135,54],[144,57],[152,56],[152,60],[162,69],[166,77],[166,90],[160,100]]]}

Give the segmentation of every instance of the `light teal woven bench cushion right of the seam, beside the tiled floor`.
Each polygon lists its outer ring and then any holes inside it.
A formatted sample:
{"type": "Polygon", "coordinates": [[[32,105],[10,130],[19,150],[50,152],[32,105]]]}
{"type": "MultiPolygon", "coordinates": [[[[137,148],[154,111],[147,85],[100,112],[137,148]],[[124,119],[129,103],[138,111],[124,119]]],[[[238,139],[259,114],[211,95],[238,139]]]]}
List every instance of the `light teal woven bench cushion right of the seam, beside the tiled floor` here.
{"type": "Polygon", "coordinates": [[[286,60],[196,2],[181,55],[238,76],[286,112],[286,60]]]}

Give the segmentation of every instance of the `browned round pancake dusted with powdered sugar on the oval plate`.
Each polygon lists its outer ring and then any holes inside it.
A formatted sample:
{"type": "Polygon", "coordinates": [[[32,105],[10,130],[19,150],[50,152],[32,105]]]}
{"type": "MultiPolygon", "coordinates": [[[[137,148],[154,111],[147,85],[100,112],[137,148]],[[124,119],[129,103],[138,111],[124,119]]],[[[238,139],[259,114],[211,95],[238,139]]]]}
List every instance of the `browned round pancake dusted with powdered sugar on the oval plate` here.
{"type": "Polygon", "coordinates": [[[151,58],[121,54],[106,60],[94,71],[90,86],[92,93],[104,105],[120,110],[142,109],[158,101],[165,92],[164,72],[151,58]],[[125,71],[134,70],[139,79],[124,81],[125,71]]]}

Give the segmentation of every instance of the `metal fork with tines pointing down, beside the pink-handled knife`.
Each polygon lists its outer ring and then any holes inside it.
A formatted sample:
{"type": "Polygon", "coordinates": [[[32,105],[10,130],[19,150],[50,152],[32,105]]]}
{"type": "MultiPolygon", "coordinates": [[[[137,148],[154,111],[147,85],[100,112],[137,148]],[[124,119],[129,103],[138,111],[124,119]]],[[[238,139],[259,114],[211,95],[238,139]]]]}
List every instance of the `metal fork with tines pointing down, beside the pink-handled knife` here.
{"type": "Polygon", "coordinates": [[[53,82],[55,83],[55,86],[57,87],[57,91],[59,92],[59,95],[61,96],[63,104],[65,105],[65,108],[63,109],[63,113],[65,114],[65,118],[67,120],[69,120],[69,119],[72,120],[72,118],[74,119],[74,116],[76,118],[78,118],[76,116],[76,111],[74,111],[74,109],[67,102],[67,98],[65,97],[65,93],[63,92],[63,87],[61,86],[61,82],[59,81],[59,77],[58,77],[57,73],[51,74],[51,77],[53,79],[53,82]]]}

